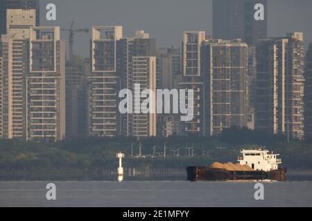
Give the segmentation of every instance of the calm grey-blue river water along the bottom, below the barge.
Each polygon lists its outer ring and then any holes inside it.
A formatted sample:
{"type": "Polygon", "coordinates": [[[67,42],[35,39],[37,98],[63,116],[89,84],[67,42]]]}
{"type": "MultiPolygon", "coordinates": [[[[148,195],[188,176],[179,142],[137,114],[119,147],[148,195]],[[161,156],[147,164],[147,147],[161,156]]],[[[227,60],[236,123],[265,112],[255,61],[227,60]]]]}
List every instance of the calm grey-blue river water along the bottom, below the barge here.
{"type": "Polygon", "coordinates": [[[312,173],[290,173],[286,182],[53,182],[56,200],[46,200],[49,182],[0,182],[0,206],[312,206],[312,173]]]}

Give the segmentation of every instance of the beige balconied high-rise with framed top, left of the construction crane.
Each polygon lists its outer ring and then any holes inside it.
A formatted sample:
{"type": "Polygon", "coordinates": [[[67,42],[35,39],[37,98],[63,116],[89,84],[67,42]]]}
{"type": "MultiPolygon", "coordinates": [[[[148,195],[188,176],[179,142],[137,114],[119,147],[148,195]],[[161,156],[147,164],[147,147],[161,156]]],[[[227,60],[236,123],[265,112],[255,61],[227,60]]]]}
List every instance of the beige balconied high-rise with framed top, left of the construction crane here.
{"type": "Polygon", "coordinates": [[[65,137],[65,42],[58,27],[31,28],[26,77],[28,140],[65,137]]]}

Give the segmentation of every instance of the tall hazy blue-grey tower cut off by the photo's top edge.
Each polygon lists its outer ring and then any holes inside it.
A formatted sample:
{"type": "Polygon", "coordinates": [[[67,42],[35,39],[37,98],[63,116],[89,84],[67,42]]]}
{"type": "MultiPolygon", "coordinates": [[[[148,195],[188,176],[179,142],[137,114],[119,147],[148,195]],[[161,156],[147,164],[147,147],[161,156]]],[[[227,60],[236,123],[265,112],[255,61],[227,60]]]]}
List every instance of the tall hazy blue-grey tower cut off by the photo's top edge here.
{"type": "Polygon", "coordinates": [[[267,0],[214,0],[213,35],[214,39],[242,39],[248,45],[268,35],[267,0]],[[257,21],[254,14],[263,6],[263,20],[257,21]]]}

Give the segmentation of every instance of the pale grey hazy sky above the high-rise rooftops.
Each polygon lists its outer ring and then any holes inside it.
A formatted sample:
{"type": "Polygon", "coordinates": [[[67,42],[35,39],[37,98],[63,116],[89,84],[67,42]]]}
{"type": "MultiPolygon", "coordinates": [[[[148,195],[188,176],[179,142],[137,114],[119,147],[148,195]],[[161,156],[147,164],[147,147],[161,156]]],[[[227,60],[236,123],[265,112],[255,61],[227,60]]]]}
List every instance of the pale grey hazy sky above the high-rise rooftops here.
{"type": "MultiPolygon", "coordinates": [[[[185,30],[205,30],[212,35],[211,0],[40,0],[44,26],[76,28],[123,26],[123,37],[144,29],[157,40],[157,47],[180,46],[185,30]],[[57,6],[57,21],[46,21],[47,3],[57,6]]],[[[311,0],[268,0],[268,35],[304,32],[306,46],[312,42],[311,0]]],[[[68,33],[62,32],[62,39],[68,33]]],[[[89,56],[91,33],[75,36],[74,53],[89,56]]]]}

